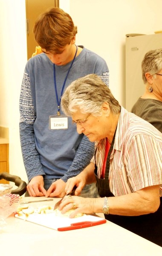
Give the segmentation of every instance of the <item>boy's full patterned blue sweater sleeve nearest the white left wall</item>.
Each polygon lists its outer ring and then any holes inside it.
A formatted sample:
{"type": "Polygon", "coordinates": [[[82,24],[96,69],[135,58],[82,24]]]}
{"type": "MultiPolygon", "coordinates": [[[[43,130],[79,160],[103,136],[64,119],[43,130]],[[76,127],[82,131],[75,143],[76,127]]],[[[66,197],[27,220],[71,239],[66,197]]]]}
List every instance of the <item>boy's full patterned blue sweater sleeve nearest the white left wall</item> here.
{"type": "Polygon", "coordinates": [[[39,153],[35,148],[33,124],[36,114],[32,102],[29,75],[24,72],[20,92],[20,143],[23,162],[28,180],[38,175],[45,175],[40,163],[39,153]]]}

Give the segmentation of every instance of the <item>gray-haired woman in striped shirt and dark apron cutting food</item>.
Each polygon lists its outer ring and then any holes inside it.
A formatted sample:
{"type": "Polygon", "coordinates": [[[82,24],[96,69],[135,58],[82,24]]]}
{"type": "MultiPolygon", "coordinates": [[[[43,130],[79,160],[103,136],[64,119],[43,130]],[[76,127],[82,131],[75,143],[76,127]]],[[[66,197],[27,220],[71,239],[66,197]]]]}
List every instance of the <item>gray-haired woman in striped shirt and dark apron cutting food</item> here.
{"type": "Polygon", "coordinates": [[[67,181],[59,209],[105,218],[162,246],[162,134],[127,112],[97,75],[72,82],[61,99],[79,134],[95,142],[91,163],[67,181]],[[96,180],[100,198],[77,195],[96,180]],[[160,204],[161,201],[161,204],[160,204]]]}

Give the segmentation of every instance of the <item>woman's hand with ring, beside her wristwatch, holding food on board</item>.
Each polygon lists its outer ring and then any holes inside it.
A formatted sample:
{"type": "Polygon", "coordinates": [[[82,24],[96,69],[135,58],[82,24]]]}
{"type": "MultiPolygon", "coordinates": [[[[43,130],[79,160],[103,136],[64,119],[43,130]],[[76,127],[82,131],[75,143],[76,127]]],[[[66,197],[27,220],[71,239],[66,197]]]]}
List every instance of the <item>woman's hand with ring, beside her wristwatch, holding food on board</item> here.
{"type": "Polygon", "coordinates": [[[68,210],[74,209],[69,218],[74,218],[78,213],[94,213],[96,198],[82,198],[79,196],[65,196],[61,201],[59,210],[62,214],[68,210]]]}

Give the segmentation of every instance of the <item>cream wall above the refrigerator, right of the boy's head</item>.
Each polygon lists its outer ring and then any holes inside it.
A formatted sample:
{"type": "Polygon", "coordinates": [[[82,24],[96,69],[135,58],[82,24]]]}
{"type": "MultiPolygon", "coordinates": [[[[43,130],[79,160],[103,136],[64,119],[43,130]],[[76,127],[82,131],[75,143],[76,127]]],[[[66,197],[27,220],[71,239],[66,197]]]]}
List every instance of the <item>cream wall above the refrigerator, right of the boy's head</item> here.
{"type": "Polygon", "coordinates": [[[125,35],[162,30],[162,0],[60,0],[60,8],[67,2],[78,27],[76,44],[107,61],[110,89],[125,106],[125,35]]]}

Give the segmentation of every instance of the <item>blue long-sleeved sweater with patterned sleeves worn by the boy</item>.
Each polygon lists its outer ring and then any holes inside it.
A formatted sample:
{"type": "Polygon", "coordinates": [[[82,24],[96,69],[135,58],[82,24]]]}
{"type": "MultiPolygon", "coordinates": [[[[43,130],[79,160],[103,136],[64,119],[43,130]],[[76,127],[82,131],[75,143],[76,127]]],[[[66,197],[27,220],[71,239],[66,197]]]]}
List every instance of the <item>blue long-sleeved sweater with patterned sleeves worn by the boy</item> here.
{"type": "MultiPolygon", "coordinates": [[[[71,62],[55,65],[58,98],[71,62]]],[[[20,143],[28,180],[43,175],[44,179],[78,175],[94,153],[94,143],[78,134],[68,117],[67,130],[49,130],[49,116],[56,115],[53,63],[41,53],[29,59],[20,93],[20,143]]],[[[103,58],[83,48],[75,58],[65,88],[79,77],[95,73],[109,83],[109,70],[103,58]]],[[[63,113],[62,111],[60,111],[63,113]]]]}

